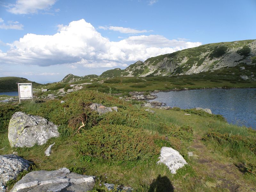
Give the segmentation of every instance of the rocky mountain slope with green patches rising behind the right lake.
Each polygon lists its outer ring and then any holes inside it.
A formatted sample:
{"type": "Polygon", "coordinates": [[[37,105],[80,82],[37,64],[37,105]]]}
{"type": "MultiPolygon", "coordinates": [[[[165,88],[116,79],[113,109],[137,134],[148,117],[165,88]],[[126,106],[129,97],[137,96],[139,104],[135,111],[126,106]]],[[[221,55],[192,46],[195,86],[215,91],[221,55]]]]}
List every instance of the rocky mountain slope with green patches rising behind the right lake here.
{"type": "Polygon", "coordinates": [[[256,40],[205,44],[137,61],[124,70],[108,70],[101,76],[176,76],[214,71],[238,64],[256,64],[256,40]]]}

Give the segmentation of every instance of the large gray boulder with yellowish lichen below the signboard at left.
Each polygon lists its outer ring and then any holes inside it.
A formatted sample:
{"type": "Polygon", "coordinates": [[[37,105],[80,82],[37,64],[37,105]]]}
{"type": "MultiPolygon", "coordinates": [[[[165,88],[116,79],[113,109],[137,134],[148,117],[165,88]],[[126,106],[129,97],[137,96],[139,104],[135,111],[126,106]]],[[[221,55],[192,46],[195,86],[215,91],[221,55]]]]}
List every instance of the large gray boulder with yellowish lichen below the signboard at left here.
{"type": "Polygon", "coordinates": [[[12,115],[8,128],[11,147],[43,145],[48,139],[59,135],[58,127],[52,122],[22,112],[12,115]]]}

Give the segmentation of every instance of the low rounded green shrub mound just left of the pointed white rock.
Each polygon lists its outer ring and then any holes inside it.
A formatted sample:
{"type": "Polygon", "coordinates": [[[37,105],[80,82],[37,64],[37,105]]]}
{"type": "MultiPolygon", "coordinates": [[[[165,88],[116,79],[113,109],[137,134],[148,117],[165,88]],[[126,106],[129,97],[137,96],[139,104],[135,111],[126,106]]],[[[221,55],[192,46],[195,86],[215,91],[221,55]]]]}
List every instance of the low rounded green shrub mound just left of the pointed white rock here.
{"type": "Polygon", "coordinates": [[[95,126],[78,135],[77,142],[80,154],[113,160],[149,160],[159,150],[154,136],[124,125],[95,126]]]}

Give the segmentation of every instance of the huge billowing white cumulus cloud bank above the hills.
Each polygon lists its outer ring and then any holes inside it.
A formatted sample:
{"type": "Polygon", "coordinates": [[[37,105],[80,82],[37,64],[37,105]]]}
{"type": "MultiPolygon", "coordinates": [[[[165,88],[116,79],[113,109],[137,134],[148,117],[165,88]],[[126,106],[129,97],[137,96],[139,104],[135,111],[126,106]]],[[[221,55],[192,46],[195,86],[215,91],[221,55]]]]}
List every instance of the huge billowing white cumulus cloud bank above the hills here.
{"type": "Polygon", "coordinates": [[[125,67],[138,60],[201,45],[200,42],[170,40],[160,35],[130,36],[110,41],[84,19],[59,25],[54,35],[26,34],[0,52],[2,64],[57,66],[70,68],[125,67]],[[72,67],[74,66],[74,67],[72,67]]]}

